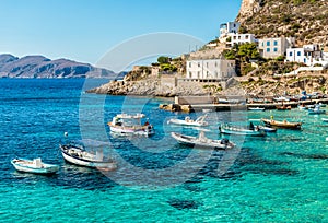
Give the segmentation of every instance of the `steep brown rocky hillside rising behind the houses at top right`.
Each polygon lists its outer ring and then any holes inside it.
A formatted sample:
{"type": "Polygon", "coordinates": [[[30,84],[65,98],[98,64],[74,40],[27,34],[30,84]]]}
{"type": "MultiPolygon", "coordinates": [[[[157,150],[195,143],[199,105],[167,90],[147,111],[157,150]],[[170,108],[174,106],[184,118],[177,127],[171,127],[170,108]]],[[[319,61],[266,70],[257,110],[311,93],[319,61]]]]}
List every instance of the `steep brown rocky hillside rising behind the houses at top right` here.
{"type": "Polygon", "coordinates": [[[328,46],[327,0],[243,0],[236,21],[258,38],[294,36],[328,46]]]}

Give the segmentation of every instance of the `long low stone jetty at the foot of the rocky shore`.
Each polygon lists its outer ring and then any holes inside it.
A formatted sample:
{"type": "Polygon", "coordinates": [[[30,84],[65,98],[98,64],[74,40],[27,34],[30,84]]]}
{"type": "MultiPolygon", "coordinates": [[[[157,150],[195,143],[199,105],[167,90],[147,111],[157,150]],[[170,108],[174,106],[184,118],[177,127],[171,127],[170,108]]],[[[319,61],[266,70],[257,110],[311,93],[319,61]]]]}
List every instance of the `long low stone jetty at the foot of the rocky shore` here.
{"type": "Polygon", "coordinates": [[[291,106],[292,108],[298,105],[328,104],[328,98],[302,99],[291,102],[262,102],[262,103],[246,103],[247,99],[220,99],[213,96],[176,96],[174,104],[160,105],[161,109],[171,111],[223,111],[223,110],[247,110],[249,107],[263,107],[265,109],[277,109],[277,106],[291,106]]]}

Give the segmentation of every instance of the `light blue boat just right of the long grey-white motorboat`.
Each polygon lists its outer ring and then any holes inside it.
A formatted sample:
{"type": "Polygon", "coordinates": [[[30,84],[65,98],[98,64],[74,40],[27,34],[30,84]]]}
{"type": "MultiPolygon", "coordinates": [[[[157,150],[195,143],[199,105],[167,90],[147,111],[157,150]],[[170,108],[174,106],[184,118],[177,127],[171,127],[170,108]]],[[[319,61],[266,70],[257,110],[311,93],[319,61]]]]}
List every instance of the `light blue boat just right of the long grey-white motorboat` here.
{"type": "Polygon", "coordinates": [[[255,127],[254,129],[246,129],[242,127],[233,127],[227,124],[222,124],[219,126],[219,131],[226,134],[241,134],[249,137],[265,137],[266,132],[255,127]]]}

